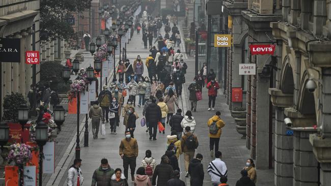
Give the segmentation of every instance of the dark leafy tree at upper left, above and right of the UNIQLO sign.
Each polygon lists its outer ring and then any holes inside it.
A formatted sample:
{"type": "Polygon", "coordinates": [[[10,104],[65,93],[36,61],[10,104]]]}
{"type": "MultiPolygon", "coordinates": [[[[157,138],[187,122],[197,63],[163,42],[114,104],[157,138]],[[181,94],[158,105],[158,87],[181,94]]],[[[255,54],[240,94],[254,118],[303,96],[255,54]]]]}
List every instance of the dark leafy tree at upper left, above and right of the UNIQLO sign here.
{"type": "Polygon", "coordinates": [[[77,40],[77,33],[68,22],[73,12],[90,9],[92,0],[41,0],[40,33],[45,39],[62,37],[66,42],[77,40]],[[47,34],[45,34],[47,33],[47,34]]]}

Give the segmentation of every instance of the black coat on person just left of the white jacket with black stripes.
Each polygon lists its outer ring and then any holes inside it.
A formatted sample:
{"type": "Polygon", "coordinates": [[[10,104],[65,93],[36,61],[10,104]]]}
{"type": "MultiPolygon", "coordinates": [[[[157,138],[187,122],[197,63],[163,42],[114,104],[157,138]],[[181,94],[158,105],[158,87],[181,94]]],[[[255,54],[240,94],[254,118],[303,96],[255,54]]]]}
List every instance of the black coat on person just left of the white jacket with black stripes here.
{"type": "Polygon", "coordinates": [[[200,160],[192,159],[188,165],[188,173],[191,175],[189,180],[191,186],[202,186],[205,173],[200,160]]]}

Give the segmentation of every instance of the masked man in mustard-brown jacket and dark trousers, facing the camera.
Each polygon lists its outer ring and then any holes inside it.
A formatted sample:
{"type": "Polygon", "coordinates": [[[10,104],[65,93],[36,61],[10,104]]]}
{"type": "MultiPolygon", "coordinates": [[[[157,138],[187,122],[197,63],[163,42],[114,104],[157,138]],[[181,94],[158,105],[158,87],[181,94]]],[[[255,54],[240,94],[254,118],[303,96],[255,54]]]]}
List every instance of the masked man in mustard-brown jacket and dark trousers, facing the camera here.
{"type": "Polygon", "coordinates": [[[130,131],[125,131],[125,138],[120,143],[120,157],[123,159],[124,176],[128,177],[129,166],[131,169],[131,180],[134,181],[136,158],[138,156],[138,143],[131,138],[130,131]]]}

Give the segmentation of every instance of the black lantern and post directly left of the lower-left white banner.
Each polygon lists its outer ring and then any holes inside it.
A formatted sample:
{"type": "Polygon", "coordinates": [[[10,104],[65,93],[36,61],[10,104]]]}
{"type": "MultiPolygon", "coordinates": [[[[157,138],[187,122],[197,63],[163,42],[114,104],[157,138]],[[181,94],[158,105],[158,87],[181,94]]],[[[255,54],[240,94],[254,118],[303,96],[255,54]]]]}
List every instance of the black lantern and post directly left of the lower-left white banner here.
{"type": "Polygon", "coordinates": [[[36,126],[36,142],[39,146],[39,186],[42,186],[43,147],[48,140],[48,126],[40,121],[36,126]]]}

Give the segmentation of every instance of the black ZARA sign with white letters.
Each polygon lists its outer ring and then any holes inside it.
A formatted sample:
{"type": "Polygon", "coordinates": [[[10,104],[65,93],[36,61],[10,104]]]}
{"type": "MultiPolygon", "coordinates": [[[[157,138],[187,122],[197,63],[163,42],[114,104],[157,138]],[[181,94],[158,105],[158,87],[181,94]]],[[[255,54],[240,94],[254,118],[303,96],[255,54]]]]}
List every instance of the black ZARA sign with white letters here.
{"type": "Polygon", "coordinates": [[[21,41],[19,38],[0,38],[0,62],[20,63],[21,41]]]}

